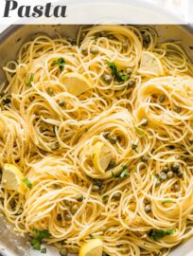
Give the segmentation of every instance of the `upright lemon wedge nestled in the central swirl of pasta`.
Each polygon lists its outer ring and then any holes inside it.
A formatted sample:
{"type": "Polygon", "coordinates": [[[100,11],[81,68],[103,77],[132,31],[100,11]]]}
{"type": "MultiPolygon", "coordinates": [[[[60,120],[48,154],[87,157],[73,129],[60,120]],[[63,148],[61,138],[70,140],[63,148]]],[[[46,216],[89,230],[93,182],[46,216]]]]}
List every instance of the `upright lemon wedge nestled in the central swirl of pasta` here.
{"type": "Polygon", "coordinates": [[[93,148],[93,164],[97,173],[104,174],[112,159],[112,151],[103,142],[97,141],[93,148]]]}

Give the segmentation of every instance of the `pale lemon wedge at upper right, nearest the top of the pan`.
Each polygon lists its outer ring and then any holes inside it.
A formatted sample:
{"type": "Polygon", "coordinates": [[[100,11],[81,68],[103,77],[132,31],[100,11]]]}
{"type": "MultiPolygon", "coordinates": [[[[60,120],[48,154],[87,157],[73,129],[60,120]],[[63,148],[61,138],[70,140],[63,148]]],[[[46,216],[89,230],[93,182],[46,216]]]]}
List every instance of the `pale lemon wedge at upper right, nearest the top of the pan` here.
{"type": "Polygon", "coordinates": [[[164,67],[159,58],[149,51],[143,51],[138,72],[142,75],[164,75],[164,67]]]}

